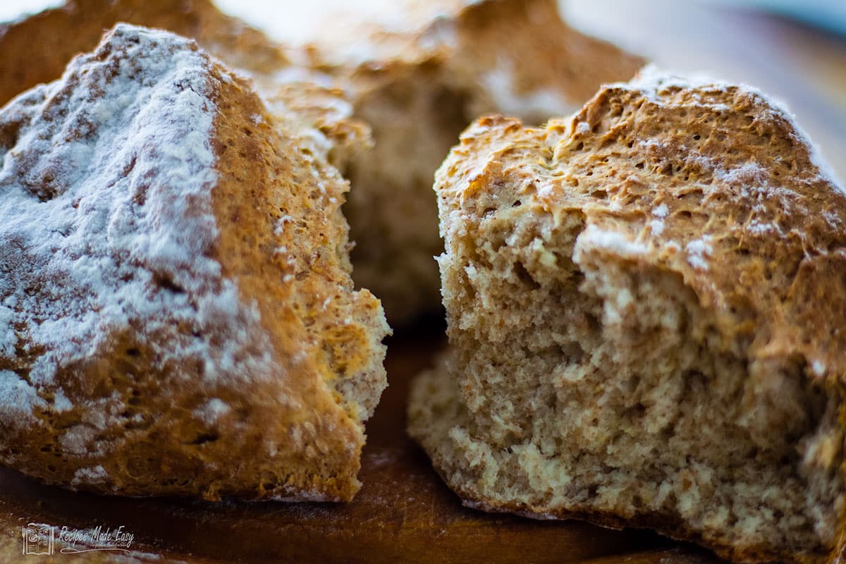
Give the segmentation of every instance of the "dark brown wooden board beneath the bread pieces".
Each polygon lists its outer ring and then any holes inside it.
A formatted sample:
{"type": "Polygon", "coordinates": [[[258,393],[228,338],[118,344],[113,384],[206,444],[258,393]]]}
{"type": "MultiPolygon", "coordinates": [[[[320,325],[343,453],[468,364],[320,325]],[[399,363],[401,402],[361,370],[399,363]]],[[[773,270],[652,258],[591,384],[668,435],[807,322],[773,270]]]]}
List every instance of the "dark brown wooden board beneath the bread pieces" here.
{"type": "MultiPolygon", "coordinates": [[[[409,379],[442,347],[437,323],[392,337],[388,387],[368,423],[364,487],[352,503],[219,504],[91,496],[0,470],[0,562],[24,556],[21,528],[124,526],[135,561],[187,562],[717,562],[649,531],[490,515],[462,507],[404,432],[409,379]],[[146,554],[145,554],[146,553],[146,554]],[[621,556],[626,555],[625,560],[621,556]]],[[[115,553],[58,553],[61,562],[111,561],[115,553]],[[97,560],[101,561],[101,560],[97,560]]]]}

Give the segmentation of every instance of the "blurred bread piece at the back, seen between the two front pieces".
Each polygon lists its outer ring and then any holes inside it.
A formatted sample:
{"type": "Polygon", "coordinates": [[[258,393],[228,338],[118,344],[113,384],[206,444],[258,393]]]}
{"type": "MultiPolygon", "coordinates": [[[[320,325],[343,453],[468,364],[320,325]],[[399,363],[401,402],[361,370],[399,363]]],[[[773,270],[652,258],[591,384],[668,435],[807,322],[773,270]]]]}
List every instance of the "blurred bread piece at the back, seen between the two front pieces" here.
{"type": "Polygon", "coordinates": [[[346,169],[344,213],[355,281],[392,322],[439,308],[431,182],[470,121],[504,112],[541,123],[643,64],[569,28],[555,0],[405,3],[393,24],[327,25],[311,63],[349,81],[354,116],[373,129],[373,151],[346,169]]]}

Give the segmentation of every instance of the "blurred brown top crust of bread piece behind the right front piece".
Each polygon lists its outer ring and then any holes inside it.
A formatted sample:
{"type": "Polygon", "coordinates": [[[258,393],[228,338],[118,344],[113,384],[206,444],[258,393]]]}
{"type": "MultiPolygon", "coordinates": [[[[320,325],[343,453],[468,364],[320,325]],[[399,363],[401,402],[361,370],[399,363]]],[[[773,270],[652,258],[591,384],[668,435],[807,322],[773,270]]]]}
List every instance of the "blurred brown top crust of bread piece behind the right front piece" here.
{"type": "MultiPolygon", "coordinates": [[[[436,34],[437,26],[433,22],[426,36],[436,34]]],[[[555,0],[466,3],[456,31],[459,64],[482,69],[488,103],[530,123],[575,110],[598,85],[629,79],[645,63],[571,28],[555,0]]]]}

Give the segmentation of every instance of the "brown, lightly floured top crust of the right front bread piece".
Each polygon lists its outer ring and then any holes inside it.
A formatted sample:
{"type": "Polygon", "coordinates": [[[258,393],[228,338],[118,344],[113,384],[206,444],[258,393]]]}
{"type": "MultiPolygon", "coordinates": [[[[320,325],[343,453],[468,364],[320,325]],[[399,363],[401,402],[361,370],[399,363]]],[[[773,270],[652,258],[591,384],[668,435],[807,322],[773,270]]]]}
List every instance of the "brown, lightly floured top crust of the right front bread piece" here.
{"type": "Polygon", "coordinates": [[[442,216],[442,235],[486,208],[578,208],[583,244],[678,272],[721,312],[726,346],[846,379],[846,193],[758,90],[650,70],[542,129],[481,118],[438,178],[464,211],[442,216]],[[480,192],[475,178],[493,172],[514,202],[480,192]]]}

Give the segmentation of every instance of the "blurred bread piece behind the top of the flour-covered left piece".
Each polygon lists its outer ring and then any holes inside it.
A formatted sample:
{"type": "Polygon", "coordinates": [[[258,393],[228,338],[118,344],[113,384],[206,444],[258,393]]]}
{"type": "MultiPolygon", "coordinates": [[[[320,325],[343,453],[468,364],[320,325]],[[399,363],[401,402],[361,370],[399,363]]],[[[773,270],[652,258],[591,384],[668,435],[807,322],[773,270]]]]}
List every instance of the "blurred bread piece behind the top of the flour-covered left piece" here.
{"type": "MultiPolygon", "coordinates": [[[[326,76],[294,63],[301,54],[222,14],[210,0],[79,0],[0,24],[0,103],[63,73],[77,53],[96,47],[118,22],[190,37],[230,68],[255,81],[272,111],[327,136],[332,162],[343,163],[368,146],[369,129],[326,76]]],[[[294,125],[297,125],[294,123],[294,125]]],[[[326,144],[323,144],[326,145],[326,144]]]]}

